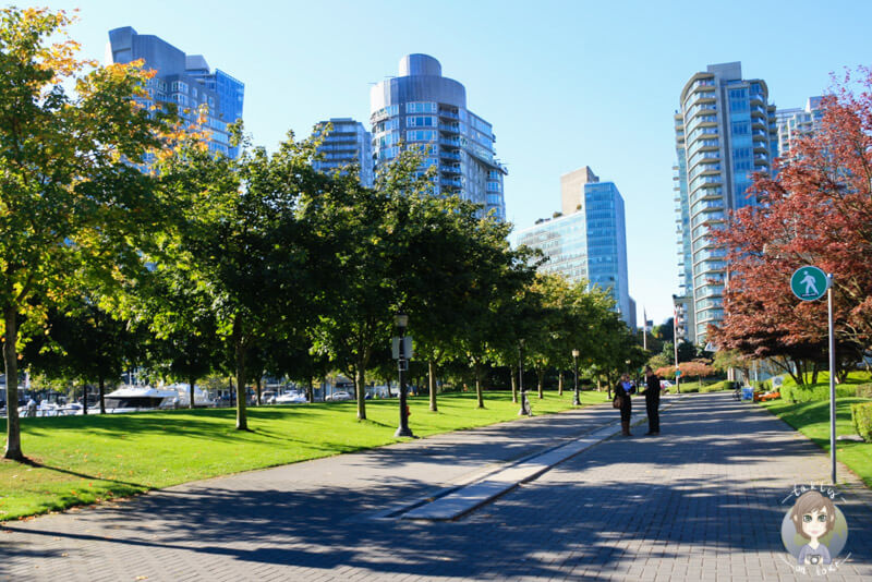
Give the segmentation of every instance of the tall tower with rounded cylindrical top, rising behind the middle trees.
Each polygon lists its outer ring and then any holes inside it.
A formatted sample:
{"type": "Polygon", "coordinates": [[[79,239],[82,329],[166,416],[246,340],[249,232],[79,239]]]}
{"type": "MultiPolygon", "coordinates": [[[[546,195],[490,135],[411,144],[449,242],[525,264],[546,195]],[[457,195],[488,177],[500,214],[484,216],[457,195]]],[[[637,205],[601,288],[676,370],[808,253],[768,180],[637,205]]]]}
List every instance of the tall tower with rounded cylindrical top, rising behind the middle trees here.
{"type": "Polygon", "coordinates": [[[444,77],[427,54],[400,59],[399,76],[377,83],[370,94],[375,170],[401,148],[425,155],[422,170],[436,167],[434,194],[458,195],[506,219],[502,178],[494,130],[467,109],[467,89],[444,77]]]}

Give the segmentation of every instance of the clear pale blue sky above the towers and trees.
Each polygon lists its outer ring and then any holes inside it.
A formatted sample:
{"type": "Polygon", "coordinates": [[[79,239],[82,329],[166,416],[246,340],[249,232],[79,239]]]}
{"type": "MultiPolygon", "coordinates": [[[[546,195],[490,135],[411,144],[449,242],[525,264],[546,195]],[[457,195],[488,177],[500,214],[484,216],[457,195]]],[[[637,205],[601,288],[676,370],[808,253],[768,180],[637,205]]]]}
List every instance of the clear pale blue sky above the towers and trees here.
{"type": "MultiPolygon", "coordinates": [[[[518,228],[560,207],[559,177],[590,166],[621,191],[630,294],[649,318],[677,290],[673,113],[687,80],[741,61],[779,108],[804,106],[829,73],[872,64],[872,2],[440,0],[414,2],[82,0],[73,36],[102,60],[107,32],[133,26],[201,53],[245,83],[244,119],[268,148],[319,120],[366,123],[370,85],[403,54],[437,58],[494,124],[518,228]]],[[[367,124],[368,125],[368,124],[367,124]]],[[[785,282],[787,284],[787,282],[785,282]]]]}

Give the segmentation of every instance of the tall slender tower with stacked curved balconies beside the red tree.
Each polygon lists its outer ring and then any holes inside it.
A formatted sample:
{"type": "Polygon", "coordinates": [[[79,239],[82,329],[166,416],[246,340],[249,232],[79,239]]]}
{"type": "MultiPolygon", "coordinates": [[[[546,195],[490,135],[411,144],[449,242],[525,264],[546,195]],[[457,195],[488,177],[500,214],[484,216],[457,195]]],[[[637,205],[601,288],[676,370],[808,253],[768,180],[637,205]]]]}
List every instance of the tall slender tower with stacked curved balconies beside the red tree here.
{"type": "Polygon", "coordinates": [[[763,81],[742,78],[741,63],[712,64],[685,85],[675,121],[679,276],[693,298],[686,339],[699,343],[724,318],[727,265],[711,232],[729,211],[756,204],[747,191],[752,173],[770,171],[777,155],[775,106],[763,81]]]}

